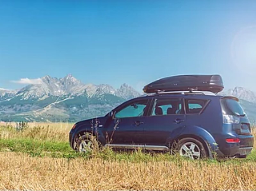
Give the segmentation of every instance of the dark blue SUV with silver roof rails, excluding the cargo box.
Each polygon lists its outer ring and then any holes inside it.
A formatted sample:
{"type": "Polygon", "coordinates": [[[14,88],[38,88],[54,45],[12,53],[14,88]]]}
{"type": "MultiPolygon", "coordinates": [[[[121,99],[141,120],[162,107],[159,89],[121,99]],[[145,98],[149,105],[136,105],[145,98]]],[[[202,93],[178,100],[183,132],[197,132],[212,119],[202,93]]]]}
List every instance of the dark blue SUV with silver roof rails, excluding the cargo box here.
{"type": "MultiPolygon", "coordinates": [[[[198,88],[197,88],[198,89],[198,88]]],[[[251,127],[238,99],[204,91],[168,91],[129,100],[106,116],[76,123],[73,149],[176,151],[192,159],[246,157],[251,127]]]]}

